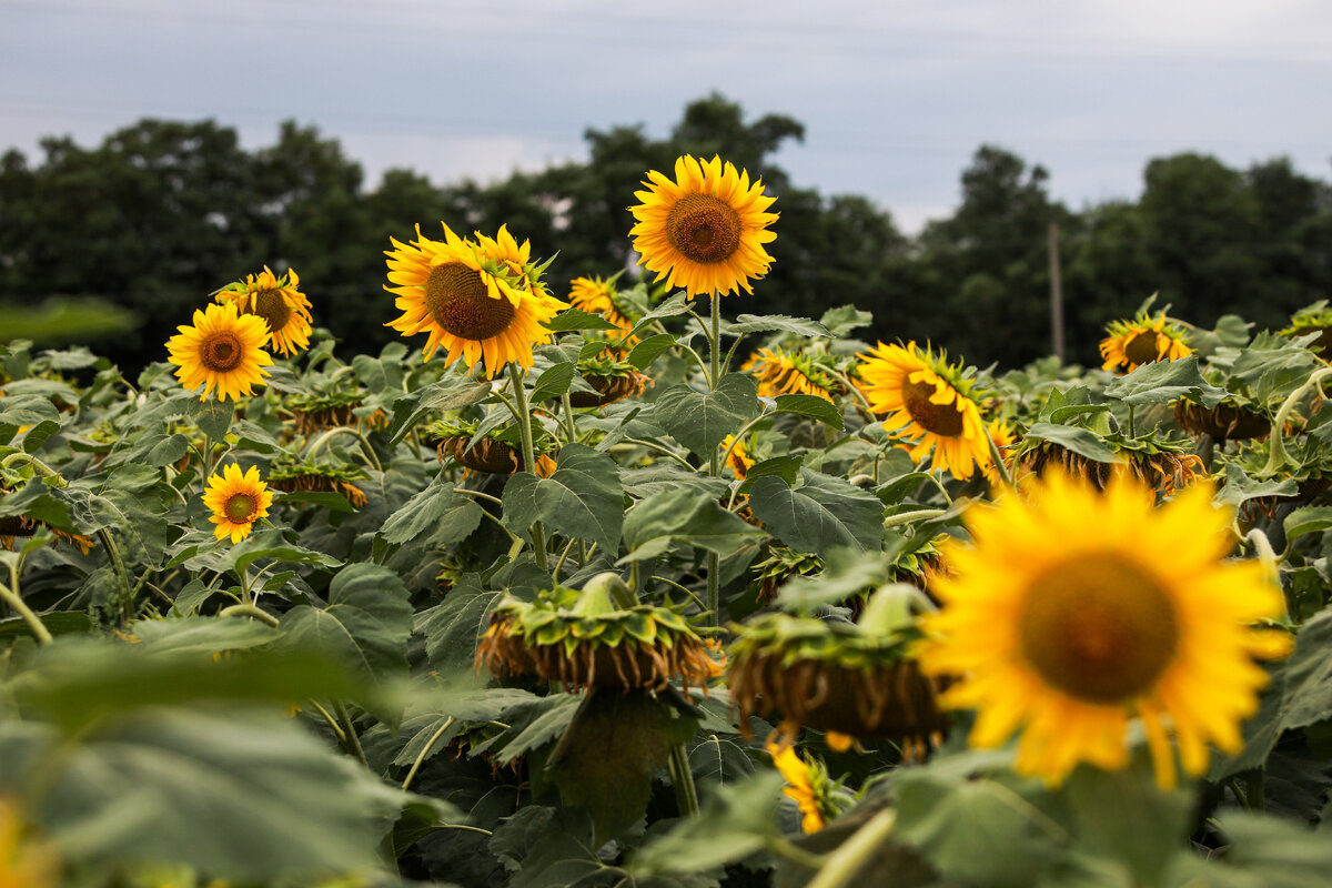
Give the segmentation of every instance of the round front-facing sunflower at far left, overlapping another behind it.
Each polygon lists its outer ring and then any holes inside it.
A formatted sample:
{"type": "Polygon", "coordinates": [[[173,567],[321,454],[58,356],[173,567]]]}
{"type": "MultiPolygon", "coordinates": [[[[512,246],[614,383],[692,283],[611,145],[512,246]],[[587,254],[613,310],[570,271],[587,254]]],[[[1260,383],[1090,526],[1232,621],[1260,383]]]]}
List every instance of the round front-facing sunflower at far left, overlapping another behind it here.
{"type": "Polygon", "coordinates": [[[194,312],[194,326],[180,326],[166,341],[168,361],[177,365],[176,377],[186,390],[204,386],[205,401],[217,389],[217,398],[240,399],[262,385],[273,357],[264,350],[268,324],[256,314],[240,314],[234,305],[209,305],[194,312]]]}

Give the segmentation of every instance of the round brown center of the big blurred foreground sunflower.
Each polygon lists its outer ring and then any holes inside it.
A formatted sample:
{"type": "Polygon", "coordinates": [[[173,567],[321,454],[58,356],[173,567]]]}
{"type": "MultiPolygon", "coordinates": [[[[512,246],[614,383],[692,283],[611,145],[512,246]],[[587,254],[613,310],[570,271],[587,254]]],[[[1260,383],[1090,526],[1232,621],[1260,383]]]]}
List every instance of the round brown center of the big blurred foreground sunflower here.
{"type": "Polygon", "coordinates": [[[1056,564],[1027,590],[1022,654],[1047,683],[1095,704],[1144,694],[1179,650],[1169,594],[1112,555],[1056,564]]]}

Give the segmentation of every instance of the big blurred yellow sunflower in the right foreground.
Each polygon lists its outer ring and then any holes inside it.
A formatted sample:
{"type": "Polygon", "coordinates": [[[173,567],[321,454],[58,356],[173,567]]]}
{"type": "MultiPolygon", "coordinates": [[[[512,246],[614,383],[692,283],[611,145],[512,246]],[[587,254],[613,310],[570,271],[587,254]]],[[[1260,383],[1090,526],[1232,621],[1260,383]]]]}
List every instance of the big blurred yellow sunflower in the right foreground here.
{"type": "Polygon", "coordinates": [[[1124,478],[1104,494],[1059,473],[967,513],[972,546],[948,547],[932,590],[922,668],[954,676],[944,706],[978,711],[970,742],[1022,730],[1015,767],[1055,784],[1080,762],[1126,767],[1142,720],[1163,788],[1175,785],[1173,732],[1187,774],[1208,743],[1240,750],[1240,720],[1267,683],[1253,658],[1289,652],[1257,630],[1284,610],[1257,560],[1225,560],[1232,514],[1199,483],[1162,509],[1124,478]]]}

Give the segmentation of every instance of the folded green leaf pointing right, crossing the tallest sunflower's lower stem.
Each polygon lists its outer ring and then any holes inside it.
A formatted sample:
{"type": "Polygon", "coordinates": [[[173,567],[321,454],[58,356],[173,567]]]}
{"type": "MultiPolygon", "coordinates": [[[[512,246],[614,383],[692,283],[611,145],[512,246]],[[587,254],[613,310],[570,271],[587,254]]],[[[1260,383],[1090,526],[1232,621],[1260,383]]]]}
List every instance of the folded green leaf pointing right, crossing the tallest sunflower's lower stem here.
{"type": "Polygon", "coordinates": [[[623,562],[653,558],[670,543],[683,543],[717,553],[722,558],[735,554],[766,533],[727,511],[717,497],[698,490],[655,493],[629,510],[625,517],[623,562]]]}

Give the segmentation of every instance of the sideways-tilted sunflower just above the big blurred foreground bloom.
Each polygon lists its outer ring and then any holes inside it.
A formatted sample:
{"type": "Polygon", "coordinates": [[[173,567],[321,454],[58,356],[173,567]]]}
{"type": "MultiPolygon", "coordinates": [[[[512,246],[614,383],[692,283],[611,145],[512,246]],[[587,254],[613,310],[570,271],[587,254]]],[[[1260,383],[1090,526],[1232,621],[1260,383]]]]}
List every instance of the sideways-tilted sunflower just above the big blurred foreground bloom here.
{"type": "Polygon", "coordinates": [[[906,347],[880,342],[859,357],[870,409],[888,414],[887,431],[900,429],[915,442],[908,447],[912,459],[932,450],[930,471],[947,469],[954,478],[971,478],[978,466],[982,473],[990,470],[990,438],[958,367],[915,342],[906,347]]]}

